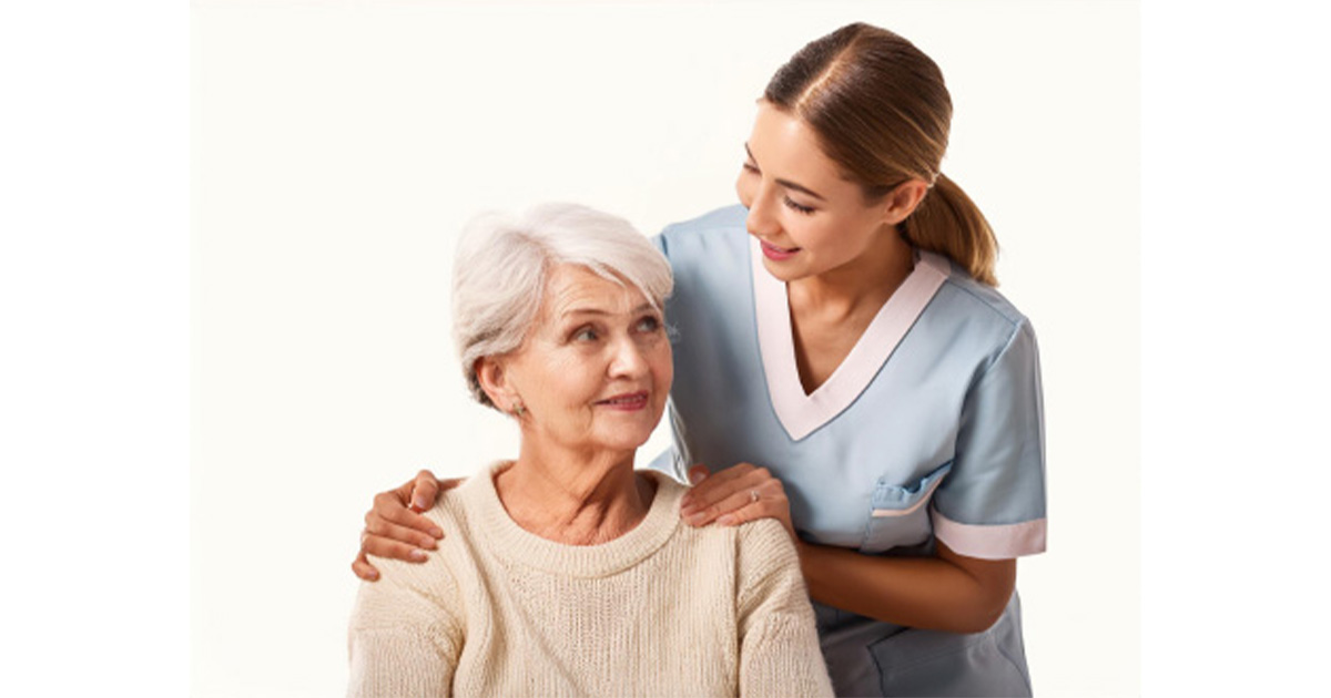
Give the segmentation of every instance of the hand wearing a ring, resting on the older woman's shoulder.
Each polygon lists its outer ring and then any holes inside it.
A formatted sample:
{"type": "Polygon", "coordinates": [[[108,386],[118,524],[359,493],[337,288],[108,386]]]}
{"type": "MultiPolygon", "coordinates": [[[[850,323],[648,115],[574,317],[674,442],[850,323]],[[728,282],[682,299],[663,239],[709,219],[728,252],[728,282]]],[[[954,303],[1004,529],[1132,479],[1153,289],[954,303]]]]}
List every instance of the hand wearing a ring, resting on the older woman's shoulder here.
{"type": "Polygon", "coordinates": [[[693,465],[688,469],[688,481],[693,483],[693,488],[684,495],[679,509],[688,525],[705,526],[716,521],[733,526],[771,517],[780,521],[791,538],[799,542],[791,524],[791,500],[785,499],[785,487],[767,468],[740,463],[711,475],[707,465],[693,465]]]}

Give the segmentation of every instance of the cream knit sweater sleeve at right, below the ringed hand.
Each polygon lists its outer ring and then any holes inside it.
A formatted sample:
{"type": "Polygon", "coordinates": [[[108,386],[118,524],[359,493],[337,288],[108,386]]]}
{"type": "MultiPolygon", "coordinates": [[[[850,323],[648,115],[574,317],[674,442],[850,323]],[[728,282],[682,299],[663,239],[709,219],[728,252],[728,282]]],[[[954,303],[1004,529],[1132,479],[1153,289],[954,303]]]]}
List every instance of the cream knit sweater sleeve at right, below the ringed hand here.
{"type": "Polygon", "coordinates": [[[739,545],[740,695],[832,695],[789,534],[760,519],[739,545]]]}

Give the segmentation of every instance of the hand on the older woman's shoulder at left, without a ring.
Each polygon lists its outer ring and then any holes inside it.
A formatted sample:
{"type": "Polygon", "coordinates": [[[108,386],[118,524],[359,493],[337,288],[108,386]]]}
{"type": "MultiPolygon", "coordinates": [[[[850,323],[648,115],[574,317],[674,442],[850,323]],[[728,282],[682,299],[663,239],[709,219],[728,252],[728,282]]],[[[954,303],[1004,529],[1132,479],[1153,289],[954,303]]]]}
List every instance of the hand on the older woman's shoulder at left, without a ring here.
{"type": "Polygon", "coordinates": [[[374,507],[365,513],[365,530],[361,532],[361,552],[351,561],[351,572],[365,581],[379,578],[379,570],[370,564],[366,554],[393,557],[409,562],[423,562],[425,550],[435,548],[435,538],[443,537],[443,530],[430,519],[417,512],[434,507],[438,496],[458,487],[462,480],[439,481],[430,471],[421,471],[414,480],[402,487],[379,492],[374,496],[374,507]],[[407,508],[407,503],[411,508],[407,508]]]}

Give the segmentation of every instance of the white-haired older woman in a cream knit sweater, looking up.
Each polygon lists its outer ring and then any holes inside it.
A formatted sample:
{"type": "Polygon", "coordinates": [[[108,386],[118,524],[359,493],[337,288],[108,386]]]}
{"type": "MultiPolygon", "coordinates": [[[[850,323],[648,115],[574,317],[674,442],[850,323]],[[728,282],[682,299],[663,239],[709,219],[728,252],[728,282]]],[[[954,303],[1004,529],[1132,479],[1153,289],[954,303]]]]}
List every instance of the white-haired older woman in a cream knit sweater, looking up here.
{"type": "Polygon", "coordinates": [[[680,525],[684,487],[634,471],[672,366],[666,258],[572,205],[482,218],[454,271],[473,395],[522,429],[427,516],[418,565],[375,558],[351,695],[831,695],[791,536],[680,525]]]}

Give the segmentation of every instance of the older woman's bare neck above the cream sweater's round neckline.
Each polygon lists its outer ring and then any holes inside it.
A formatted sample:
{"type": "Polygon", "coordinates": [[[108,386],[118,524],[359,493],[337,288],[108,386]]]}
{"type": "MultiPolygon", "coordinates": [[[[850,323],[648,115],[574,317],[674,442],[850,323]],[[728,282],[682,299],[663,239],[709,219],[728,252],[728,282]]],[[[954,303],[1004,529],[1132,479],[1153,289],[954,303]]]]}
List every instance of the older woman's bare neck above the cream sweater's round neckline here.
{"type": "Polygon", "coordinates": [[[495,476],[495,492],[523,529],[568,545],[596,545],[647,516],[655,489],[634,472],[634,452],[579,453],[523,437],[518,460],[495,476]]]}

